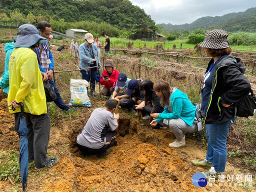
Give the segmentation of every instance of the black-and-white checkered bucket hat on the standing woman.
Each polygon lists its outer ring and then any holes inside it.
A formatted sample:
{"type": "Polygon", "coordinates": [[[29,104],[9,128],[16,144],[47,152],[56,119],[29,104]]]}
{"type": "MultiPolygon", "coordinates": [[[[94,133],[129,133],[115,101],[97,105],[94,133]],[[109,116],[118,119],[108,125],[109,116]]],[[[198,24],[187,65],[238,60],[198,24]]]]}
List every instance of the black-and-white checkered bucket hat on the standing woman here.
{"type": "Polygon", "coordinates": [[[205,38],[200,44],[204,48],[222,49],[229,47],[227,32],[221,29],[214,29],[206,32],[205,38]]]}

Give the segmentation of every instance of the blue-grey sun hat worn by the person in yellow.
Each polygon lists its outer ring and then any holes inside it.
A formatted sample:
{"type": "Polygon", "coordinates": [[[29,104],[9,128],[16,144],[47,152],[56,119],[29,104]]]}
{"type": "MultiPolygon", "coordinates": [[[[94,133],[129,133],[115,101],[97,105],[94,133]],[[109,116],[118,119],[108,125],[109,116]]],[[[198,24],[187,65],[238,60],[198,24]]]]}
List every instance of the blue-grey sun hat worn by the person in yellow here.
{"type": "Polygon", "coordinates": [[[32,24],[26,23],[18,27],[17,40],[14,47],[30,47],[40,40],[40,43],[47,39],[40,35],[40,32],[32,24]]]}

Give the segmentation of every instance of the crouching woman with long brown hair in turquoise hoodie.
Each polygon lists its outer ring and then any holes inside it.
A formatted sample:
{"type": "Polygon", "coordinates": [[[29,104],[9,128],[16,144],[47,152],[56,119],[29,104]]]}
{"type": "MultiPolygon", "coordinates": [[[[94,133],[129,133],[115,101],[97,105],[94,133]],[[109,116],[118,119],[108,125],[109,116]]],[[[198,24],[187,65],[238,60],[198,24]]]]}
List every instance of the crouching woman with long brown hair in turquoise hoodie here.
{"type": "Polygon", "coordinates": [[[152,113],[154,120],[150,125],[157,123],[168,125],[176,139],[169,143],[169,147],[181,147],[185,145],[185,133],[195,132],[197,125],[193,123],[195,117],[195,106],[189,101],[186,94],[176,87],[170,88],[163,80],[154,83],[153,89],[161,98],[161,105],[164,106],[162,113],[152,113]]]}

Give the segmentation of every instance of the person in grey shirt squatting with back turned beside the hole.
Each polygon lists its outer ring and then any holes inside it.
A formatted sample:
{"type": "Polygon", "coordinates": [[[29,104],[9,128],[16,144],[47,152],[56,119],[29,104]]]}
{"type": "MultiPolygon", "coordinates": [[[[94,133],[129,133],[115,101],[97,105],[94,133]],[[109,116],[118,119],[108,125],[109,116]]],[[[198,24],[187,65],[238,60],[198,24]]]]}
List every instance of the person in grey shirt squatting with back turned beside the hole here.
{"type": "Polygon", "coordinates": [[[108,99],[103,108],[93,110],[76,138],[77,147],[83,154],[102,157],[116,144],[119,114],[113,113],[115,107],[116,101],[108,99]]]}

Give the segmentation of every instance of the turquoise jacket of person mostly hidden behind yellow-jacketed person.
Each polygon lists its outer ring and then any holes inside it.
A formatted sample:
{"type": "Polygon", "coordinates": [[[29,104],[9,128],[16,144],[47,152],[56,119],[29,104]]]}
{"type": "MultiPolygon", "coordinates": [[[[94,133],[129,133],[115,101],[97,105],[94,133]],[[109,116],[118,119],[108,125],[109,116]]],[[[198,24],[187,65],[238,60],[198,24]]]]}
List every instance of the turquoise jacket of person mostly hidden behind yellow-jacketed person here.
{"type": "Polygon", "coordinates": [[[14,49],[14,44],[14,42],[7,42],[4,46],[4,51],[6,52],[6,55],[4,72],[0,79],[0,88],[3,88],[3,92],[5,92],[6,94],[8,94],[9,92],[9,57],[12,50],[14,49]]]}

